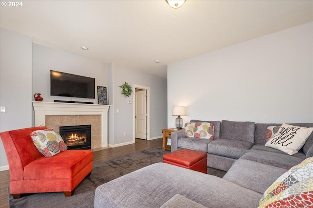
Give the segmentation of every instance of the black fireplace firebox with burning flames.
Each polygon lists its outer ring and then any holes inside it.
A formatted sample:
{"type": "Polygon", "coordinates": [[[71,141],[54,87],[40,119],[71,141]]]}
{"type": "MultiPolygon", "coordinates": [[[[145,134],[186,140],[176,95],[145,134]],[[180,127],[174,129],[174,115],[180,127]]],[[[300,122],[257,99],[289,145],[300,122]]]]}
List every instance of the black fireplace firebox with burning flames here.
{"type": "Polygon", "coordinates": [[[60,126],[60,135],[68,150],[91,149],[91,125],[60,126]]]}

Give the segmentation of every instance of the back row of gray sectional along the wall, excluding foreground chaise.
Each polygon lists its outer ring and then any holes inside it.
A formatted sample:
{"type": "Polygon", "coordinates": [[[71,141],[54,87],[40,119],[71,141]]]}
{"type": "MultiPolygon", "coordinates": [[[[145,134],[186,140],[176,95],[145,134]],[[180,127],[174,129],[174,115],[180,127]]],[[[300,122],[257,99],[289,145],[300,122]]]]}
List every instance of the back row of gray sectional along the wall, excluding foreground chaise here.
{"type": "MultiPolygon", "coordinates": [[[[229,170],[235,161],[242,159],[265,163],[279,168],[289,169],[303,159],[313,156],[313,134],[303,148],[296,154],[289,155],[282,151],[266,147],[266,132],[269,126],[281,124],[254,123],[240,121],[200,121],[214,125],[214,139],[198,139],[185,136],[184,131],[171,133],[171,151],[182,148],[207,152],[207,166],[229,170]],[[246,154],[247,153],[247,154],[246,154]],[[280,159],[273,160],[277,156],[280,159]],[[267,159],[266,159],[267,158],[267,159]]],[[[313,127],[313,123],[293,123],[301,127],[313,127]]]]}

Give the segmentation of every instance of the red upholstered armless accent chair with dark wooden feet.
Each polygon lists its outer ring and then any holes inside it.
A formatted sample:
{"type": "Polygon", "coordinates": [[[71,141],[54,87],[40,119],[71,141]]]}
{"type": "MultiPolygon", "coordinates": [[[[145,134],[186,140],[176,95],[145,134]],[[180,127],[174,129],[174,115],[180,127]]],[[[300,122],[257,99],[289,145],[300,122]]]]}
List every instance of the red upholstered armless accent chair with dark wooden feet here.
{"type": "Polygon", "coordinates": [[[10,194],[64,192],[71,196],[77,185],[91,174],[93,151],[67,150],[45,157],[30,133],[46,127],[32,127],[1,132],[10,171],[10,194]]]}

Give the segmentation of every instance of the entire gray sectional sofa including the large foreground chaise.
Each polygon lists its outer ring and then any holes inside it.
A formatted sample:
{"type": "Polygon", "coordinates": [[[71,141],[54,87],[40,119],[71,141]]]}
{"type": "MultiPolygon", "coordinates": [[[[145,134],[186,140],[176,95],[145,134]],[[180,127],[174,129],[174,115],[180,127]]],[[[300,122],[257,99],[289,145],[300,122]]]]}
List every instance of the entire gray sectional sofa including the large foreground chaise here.
{"type": "MultiPolygon", "coordinates": [[[[191,120],[197,122],[197,120],[191,120]]],[[[171,151],[207,152],[209,167],[223,178],[156,163],[99,186],[95,208],[257,208],[265,190],[284,172],[313,156],[313,133],[303,148],[288,155],[265,147],[268,126],[254,122],[213,121],[214,139],[171,134],[171,151]]],[[[313,127],[313,123],[293,124],[313,127]]]]}

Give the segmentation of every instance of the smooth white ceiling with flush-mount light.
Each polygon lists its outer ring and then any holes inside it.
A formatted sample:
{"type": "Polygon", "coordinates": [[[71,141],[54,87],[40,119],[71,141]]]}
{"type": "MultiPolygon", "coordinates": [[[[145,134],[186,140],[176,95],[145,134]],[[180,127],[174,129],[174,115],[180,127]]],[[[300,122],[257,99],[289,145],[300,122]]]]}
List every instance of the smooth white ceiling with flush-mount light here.
{"type": "Polygon", "coordinates": [[[167,64],[313,21],[313,0],[186,0],[179,9],[165,0],[21,1],[0,7],[1,27],[165,78],[167,64]]]}

